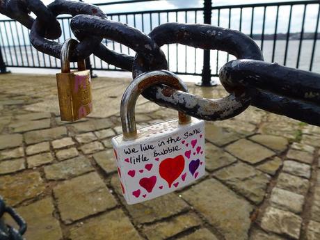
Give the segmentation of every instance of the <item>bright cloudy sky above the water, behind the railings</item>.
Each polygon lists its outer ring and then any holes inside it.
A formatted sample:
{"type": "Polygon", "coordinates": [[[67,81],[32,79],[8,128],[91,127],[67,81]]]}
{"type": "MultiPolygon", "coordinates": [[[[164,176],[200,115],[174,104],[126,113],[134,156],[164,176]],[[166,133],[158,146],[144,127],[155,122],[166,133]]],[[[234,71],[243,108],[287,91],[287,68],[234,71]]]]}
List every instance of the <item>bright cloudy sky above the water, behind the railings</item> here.
{"type": "MultiPolygon", "coordinates": [[[[53,0],[42,0],[46,5],[51,3],[53,0]]],[[[84,0],[87,3],[100,3],[100,2],[115,2],[117,0],[84,0]]],[[[120,0],[118,0],[120,2],[120,0]]],[[[246,3],[262,3],[262,2],[275,2],[281,0],[241,0],[241,4],[246,3]]],[[[240,3],[239,0],[213,0],[214,6],[223,6],[223,5],[234,5],[240,3]]],[[[203,0],[162,0],[154,2],[143,2],[143,3],[131,3],[131,4],[115,4],[111,6],[100,7],[104,10],[105,13],[122,13],[130,12],[134,10],[160,10],[160,9],[172,9],[172,8],[196,8],[202,7],[203,0]]],[[[314,32],[316,26],[317,13],[319,8],[317,5],[310,5],[307,7],[306,19],[305,19],[305,31],[314,32]]],[[[289,6],[280,7],[279,11],[279,24],[278,32],[285,33],[287,32],[287,24],[289,19],[289,6]]],[[[217,24],[217,13],[213,11],[212,13],[212,25],[217,24]]],[[[240,10],[232,10],[232,21],[231,28],[239,29],[239,15],[240,10]]],[[[266,26],[265,33],[273,33],[275,28],[275,15],[276,8],[269,7],[266,10],[266,26]]],[[[255,17],[254,17],[254,33],[261,33],[262,31],[262,16],[263,8],[255,8],[255,17]]],[[[292,24],[291,32],[300,32],[301,23],[303,16],[303,5],[295,6],[292,13],[292,24]]],[[[3,16],[0,15],[3,18],[3,16]]],[[[188,22],[193,23],[195,16],[190,14],[188,15],[188,22]]],[[[198,19],[202,19],[202,14],[198,16],[198,19]]],[[[221,26],[227,27],[229,19],[228,10],[221,11],[221,26]]],[[[120,19],[121,21],[121,19],[120,19]]],[[[169,22],[175,22],[175,15],[170,17],[169,22]]],[[[179,15],[178,22],[184,22],[184,15],[179,15]]],[[[251,22],[251,8],[243,9],[243,22],[242,22],[242,31],[245,33],[250,32],[250,22],[251,22]]],[[[130,24],[130,23],[129,23],[130,24]]],[[[147,32],[147,31],[146,31],[147,32]]]]}

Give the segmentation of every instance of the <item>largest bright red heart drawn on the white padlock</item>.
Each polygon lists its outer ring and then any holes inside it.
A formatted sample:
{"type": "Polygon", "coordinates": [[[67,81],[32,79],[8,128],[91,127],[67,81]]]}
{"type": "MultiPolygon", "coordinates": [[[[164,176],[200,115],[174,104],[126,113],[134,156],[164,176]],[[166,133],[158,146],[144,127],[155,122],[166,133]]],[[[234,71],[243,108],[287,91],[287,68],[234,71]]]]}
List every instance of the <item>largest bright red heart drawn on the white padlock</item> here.
{"type": "MultiPolygon", "coordinates": [[[[189,156],[190,157],[190,156],[189,156]]],[[[168,158],[161,161],[159,165],[159,174],[160,176],[168,182],[169,188],[175,182],[175,179],[179,177],[179,175],[184,170],[184,157],[182,155],[178,155],[174,158],[168,158]]]]}

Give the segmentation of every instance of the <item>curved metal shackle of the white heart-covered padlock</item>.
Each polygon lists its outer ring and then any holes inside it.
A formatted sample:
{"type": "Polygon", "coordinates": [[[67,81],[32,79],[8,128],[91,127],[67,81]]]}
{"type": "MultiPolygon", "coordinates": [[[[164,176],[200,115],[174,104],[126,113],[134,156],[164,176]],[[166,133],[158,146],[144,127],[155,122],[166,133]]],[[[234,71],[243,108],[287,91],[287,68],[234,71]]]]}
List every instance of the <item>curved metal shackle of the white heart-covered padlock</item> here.
{"type": "MultiPolygon", "coordinates": [[[[131,81],[125,93],[122,96],[120,106],[120,116],[122,122],[122,133],[124,140],[133,140],[137,138],[135,106],[139,95],[151,86],[165,84],[177,90],[188,93],[186,84],[177,77],[177,75],[166,70],[145,72],[131,81]]],[[[191,122],[191,116],[179,112],[179,124],[184,125],[191,122]]]]}

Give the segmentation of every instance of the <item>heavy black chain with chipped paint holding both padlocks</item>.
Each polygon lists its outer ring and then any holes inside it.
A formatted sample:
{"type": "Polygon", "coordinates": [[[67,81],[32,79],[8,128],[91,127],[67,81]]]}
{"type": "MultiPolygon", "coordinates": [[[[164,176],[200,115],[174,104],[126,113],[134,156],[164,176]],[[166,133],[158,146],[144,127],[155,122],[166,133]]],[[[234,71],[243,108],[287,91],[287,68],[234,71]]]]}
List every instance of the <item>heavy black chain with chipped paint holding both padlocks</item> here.
{"type": "MultiPolygon", "coordinates": [[[[320,74],[266,63],[262,51],[247,35],[207,24],[161,24],[148,35],[127,24],[114,22],[97,6],[78,1],[56,0],[45,6],[40,0],[0,0],[0,13],[31,29],[33,47],[60,58],[61,36],[56,17],[72,15],[71,29],[80,41],[70,61],[90,54],[137,77],[151,70],[167,70],[160,47],[179,43],[201,49],[226,51],[236,56],[220,70],[220,80],[230,93],[221,99],[206,99],[168,86],[148,88],[143,96],[161,106],[205,120],[225,120],[249,105],[320,126],[320,74]],[[29,13],[37,18],[33,19],[29,13]],[[103,45],[106,38],[136,51],[136,57],[119,54],[103,45]]],[[[155,80],[156,81],[156,80],[155,80]]]]}

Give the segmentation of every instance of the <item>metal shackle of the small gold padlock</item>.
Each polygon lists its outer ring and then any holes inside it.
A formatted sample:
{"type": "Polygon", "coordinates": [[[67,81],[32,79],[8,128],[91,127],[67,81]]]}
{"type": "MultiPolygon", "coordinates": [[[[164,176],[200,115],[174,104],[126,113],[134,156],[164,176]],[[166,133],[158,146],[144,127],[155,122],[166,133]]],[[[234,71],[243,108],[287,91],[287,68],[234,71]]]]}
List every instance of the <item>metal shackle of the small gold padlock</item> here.
{"type": "MultiPolygon", "coordinates": [[[[78,41],[73,38],[68,38],[62,45],[61,48],[61,72],[69,73],[70,72],[70,51],[74,50],[78,41]]],[[[78,61],[78,70],[83,71],[86,70],[86,62],[84,60],[78,61]]]]}

